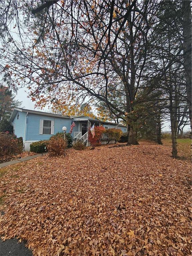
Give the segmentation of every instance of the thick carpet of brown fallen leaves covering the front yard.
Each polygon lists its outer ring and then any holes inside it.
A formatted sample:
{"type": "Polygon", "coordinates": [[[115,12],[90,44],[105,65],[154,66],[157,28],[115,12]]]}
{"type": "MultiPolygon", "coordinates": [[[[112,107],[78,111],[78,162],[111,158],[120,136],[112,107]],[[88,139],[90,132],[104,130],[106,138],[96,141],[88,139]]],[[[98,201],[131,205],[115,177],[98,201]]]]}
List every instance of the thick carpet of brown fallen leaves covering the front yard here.
{"type": "Polygon", "coordinates": [[[34,256],[191,255],[191,164],[142,143],[1,169],[0,234],[34,256]]]}

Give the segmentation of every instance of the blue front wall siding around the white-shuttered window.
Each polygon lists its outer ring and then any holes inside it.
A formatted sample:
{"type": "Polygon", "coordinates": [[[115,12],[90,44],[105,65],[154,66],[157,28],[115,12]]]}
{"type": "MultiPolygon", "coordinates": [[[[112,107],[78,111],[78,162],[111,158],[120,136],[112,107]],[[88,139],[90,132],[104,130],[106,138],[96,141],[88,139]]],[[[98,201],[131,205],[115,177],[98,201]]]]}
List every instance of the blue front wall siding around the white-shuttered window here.
{"type": "MultiPolygon", "coordinates": [[[[63,126],[67,127],[67,133],[70,131],[71,127],[71,119],[68,118],[59,118],[59,117],[51,117],[45,115],[36,115],[29,113],[27,120],[27,131],[26,131],[26,140],[27,141],[39,141],[39,140],[48,140],[53,134],[39,134],[40,120],[49,120],[54,121],[54,134],[57,132],[62,132],[63,126]]],[[[73,128],[73,133],[78,131],[79,126],[78,122],[75,122],[75,127],[73,128]]]]}

